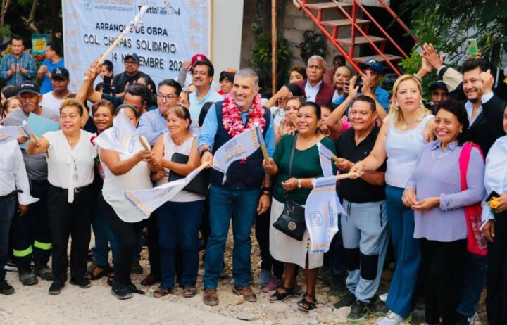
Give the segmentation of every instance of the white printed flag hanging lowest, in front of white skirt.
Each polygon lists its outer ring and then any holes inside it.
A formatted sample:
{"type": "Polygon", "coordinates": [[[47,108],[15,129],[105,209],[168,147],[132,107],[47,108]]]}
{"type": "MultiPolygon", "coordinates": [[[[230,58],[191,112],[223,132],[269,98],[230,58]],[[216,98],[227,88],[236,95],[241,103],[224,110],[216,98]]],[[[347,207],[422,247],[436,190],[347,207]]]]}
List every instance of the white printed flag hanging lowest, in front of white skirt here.
{"type": "Polygon", "coordinates": [[[338,232],[338,214],[345,215],[336,193],[336,177],[313,180],[313,190],[306,199],[305,221],[310,235],[311,254],[326,253],[338,232]]]}

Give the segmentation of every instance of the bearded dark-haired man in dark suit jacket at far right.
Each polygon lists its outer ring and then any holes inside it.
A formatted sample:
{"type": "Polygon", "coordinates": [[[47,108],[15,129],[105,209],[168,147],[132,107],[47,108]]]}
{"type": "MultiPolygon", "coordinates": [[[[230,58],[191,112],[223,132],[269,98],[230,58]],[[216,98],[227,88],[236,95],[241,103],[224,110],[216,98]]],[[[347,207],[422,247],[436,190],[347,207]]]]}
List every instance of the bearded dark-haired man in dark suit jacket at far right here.
{"type": "Polygon", "coordinates": [[[465,108],[470,121],[468,139],[487,155],[494,141],[505,135],[502,121],[506,102],[493,92],[494,77],[487,61],[467,60],[462,69],[463,92],[468,99],[465,108]]]}

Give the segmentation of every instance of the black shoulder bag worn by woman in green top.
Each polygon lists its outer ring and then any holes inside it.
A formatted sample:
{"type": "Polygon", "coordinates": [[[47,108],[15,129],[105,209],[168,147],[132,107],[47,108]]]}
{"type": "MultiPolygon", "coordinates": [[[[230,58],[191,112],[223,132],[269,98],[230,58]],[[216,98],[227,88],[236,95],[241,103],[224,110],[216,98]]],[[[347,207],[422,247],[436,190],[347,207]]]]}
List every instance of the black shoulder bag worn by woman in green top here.
{"type": "MultiPolygon", "coordinates": [[[[292,174],[292,160],[294,160],[294,150],[296,149],[297,134],[294,137],[294,144],[292,144],[292,151],[289,159],[289,179],[292,174]]],[[[278,217],[273,227],[282,231],[289,237],[297,241],[303,240],[303,235],[306,230],[306,222],[304,217],[304,208],[298,203],[291,200],[285,191],[285,205],[282,215],[278,217]]]]}

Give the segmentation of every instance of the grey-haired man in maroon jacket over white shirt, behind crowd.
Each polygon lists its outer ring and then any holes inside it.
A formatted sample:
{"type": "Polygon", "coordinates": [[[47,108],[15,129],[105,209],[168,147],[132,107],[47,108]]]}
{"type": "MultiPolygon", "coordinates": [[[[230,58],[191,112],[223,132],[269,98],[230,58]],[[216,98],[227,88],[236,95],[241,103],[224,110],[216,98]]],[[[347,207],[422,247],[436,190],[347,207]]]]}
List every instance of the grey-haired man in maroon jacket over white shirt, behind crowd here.
{"type": "Polygon", "coordinates": [[[324,59],[322,56],[312,56],[308,59],[308,65],[306,65],[308,79],[296,82],[296,84],[303,91],[307,101],[314,101],[320,106],[329,106],[331,105],[334,88],[324,82],[324,72],[324,59]]]}

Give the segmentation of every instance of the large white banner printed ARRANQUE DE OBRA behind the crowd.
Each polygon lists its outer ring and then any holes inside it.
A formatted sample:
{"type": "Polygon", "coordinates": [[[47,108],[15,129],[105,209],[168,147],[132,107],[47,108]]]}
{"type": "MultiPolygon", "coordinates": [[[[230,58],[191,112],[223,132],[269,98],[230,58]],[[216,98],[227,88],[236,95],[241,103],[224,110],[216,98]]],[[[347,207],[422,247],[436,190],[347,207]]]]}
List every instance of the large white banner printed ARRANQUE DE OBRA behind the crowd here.
{"type": "Polygon", "coordinates": [[[194,54],[210,57],[211,0],[62,0],[65,67],[71,89],[79,88],[92,61],[106,52],[144,5],[151,7],[142,27],[128,33],[107,58],[115,74],[125,70],[127,53],[139,55],[139,70],[156,84],[176,79],[182,62],[194,54]]]}

